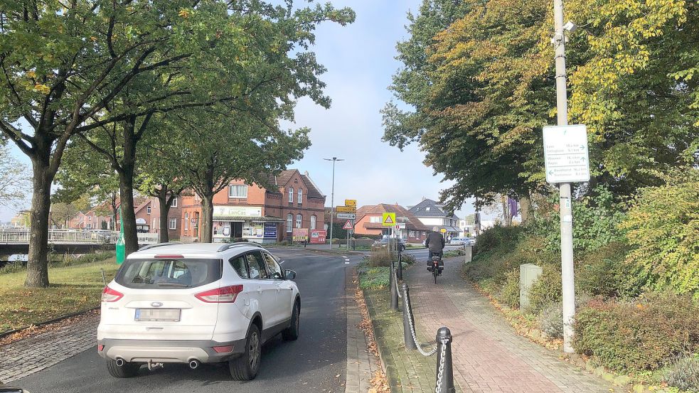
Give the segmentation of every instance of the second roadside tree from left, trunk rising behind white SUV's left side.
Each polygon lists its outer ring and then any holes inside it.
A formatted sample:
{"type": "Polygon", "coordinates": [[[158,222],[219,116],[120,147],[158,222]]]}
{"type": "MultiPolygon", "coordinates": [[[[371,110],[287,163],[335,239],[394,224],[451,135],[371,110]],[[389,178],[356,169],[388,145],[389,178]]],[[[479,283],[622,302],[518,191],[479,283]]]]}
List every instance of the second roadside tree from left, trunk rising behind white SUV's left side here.
{"type": "Polygon", "coordinates": [[[289,52],[295,48],[306,50],[314,42],[312,31],[321,21],[353,21],[351,9],[336,10],[326,4],[292,11],[291,1],[286,9],[258,1],[250,1],[243,9],[233,4],[225,9],[223,2],[214,3],[219,7],[210,9],[210,4],[199,4],[179,12],[186,21],[183,28],[197,34],[179,37],[186,39],[185,47],[178,48],[185,51],[181,60],[134,77],[134,83],[122,90],[112,107],[106,108],[113,112],[107,117],[123,117],[120,122],[100,121],[105,124],[90,136],[80,134],[110,160],[119,176],[126,254],[138,249],[133,201],[138,146],[157,131],[153,124],[156,114],[208,114],[212,112],[206,108],[216,106],[221,113],[239,115],[246,110],[237,108],[257,102],[278,108],[275,113],[290,118],[294,97],[308,96],[329,103],[322,95],[324,83],[317,77],[324,68],[316,63],[314,53],[302,51],[292,56],[289,52]],[[139,103],[144,109],[134,111],[132,108],[138,108],[139,103]],[[118,114],[123,108],[129,108],[128,112],[118,114]]]}

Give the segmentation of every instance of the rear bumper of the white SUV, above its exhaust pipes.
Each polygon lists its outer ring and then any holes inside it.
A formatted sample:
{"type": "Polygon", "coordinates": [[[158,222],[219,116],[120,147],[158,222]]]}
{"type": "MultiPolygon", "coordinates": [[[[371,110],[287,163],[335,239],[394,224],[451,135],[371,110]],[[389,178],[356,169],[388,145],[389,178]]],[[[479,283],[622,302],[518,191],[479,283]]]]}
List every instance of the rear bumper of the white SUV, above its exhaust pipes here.
{"type": "Polygon", "coordinates": [[[108,359],[121,358],[126,362],[202,363],[223,362],[245,352],[245,338],[220,343],[213,340],[124,340],[104,338],[97,353],[108,359]],[[213,347],[233,345],[232,352],[218,353],[213,347]]]}

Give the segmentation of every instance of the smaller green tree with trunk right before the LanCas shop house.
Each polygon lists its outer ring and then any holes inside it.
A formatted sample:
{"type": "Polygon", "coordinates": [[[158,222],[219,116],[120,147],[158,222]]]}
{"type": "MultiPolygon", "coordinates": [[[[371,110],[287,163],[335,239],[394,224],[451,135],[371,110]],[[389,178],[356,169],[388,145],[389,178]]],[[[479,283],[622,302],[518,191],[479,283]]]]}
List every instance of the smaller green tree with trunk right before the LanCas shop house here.
{"type": "Polygon", "coordinates": [[[233,179],[266,188],[276,185],[270,179],[294,160],[302,158],[310,146],[308,129],[284,131],[279,128],[277,112],[257,112],[251,102],[250,113],[186,112],[173,119],[169,130],[180,124],[179,133],[169,132],[164,155],[181,169],[187,183],[201,198],[201,241],[211,242],[213,196],[228,187],[233,179]],[[252,116],[252,113],[257,116],[252,116]],[[262,117],[267,116],[267,117],[262,117]]]}

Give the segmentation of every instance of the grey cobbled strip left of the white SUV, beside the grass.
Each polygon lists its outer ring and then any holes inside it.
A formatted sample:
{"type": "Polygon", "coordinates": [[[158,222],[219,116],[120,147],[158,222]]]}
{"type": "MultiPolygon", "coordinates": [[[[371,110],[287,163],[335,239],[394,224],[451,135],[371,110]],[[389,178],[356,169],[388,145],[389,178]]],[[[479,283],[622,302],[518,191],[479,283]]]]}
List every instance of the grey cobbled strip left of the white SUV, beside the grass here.
{"type": "Polygon", "coordinates": [[[71,323],[0,346],[0,381],[11,382],[53,366],[97,345],[100,314],[86,313],[71,323]]]}

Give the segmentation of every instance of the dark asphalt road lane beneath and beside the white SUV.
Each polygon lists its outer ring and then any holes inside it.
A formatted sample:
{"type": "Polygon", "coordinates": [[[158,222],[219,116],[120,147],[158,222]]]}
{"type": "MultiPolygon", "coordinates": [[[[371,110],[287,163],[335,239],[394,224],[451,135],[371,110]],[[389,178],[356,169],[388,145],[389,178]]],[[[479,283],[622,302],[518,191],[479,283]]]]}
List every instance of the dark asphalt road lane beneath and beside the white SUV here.
{"type": "Polygon", "coordinates": [[[351,276],[348,267],[354,263],[302,250],[271,251],[284,259],[284,269],[297,271],[302,295],[301,337],[294,342],[276,338],[265,345],[256,379],[233,381],[223,365],[201,365],[197,370],[166,365],[152,372],[142,367],[137,377],[117,379],[107,372],[97,348],[91,348],[13,384],[33,393],[344,392],[345,289],[347,276],[351,276]]]}

